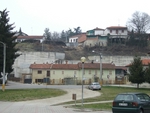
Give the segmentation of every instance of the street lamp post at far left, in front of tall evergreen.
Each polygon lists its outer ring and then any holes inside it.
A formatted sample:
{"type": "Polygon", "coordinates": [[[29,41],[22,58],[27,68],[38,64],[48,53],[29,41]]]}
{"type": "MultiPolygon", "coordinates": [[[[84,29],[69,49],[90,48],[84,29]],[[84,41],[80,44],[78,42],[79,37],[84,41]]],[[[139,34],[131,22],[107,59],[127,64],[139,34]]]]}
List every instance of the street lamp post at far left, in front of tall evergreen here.
{"type": "Polygon", "coordinates": [[[3,50],[3,84],[2,84],[2,90],[3,91],[5,91],[5,63],[6,63],[6,44],[5,43],[3,43],[3,42],[1,42],[0,41],[0,43],[1,44],[3,44],[3,48],[4,48],[4,50],[3,50]]]}

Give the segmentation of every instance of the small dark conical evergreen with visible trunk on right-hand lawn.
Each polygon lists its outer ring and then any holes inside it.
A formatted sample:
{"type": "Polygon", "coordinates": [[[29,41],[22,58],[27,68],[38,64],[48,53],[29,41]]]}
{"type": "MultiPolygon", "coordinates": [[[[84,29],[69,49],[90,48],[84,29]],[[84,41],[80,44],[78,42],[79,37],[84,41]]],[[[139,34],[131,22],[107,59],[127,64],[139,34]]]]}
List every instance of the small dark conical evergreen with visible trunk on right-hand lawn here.
{"type": "Polygon", "coordinates": [[[132,83],[137,83],[137,88],[139,88],[139,84],[145,82],[144,79],[144,70],[140,57],[135,57],[134,61],[129,67],[129,81],[132,83]]]}

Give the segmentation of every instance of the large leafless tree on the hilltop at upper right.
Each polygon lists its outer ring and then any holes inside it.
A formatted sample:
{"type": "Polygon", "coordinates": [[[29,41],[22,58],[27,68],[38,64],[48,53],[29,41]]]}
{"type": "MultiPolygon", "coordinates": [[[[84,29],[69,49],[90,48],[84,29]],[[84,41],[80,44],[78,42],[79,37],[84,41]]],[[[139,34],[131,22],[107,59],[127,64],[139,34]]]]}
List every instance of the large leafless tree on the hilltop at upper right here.
{"type": "Polygon", "coordinates": [[[136,11],[127,22],[128,29],[139,34],[146,33],[150,29],[150,16],[144,12],[136,11]]]}

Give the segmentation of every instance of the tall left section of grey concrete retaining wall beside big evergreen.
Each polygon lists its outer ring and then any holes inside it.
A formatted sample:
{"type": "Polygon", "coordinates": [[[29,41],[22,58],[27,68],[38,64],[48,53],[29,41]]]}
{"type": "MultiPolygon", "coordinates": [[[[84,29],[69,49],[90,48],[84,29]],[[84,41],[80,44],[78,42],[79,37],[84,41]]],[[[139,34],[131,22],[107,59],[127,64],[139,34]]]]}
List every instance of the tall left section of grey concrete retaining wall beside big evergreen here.
{"type": "Polygon", "coordinates": [[[58,59],[64,59],[64,53],[57,52],[18,52],[21,54],[18,58],[16,58],[13,69],[14,76],[21,77],[22,73],[30,73],[29,66],[36,62],[40,63],[52,63],[58,59]]]}

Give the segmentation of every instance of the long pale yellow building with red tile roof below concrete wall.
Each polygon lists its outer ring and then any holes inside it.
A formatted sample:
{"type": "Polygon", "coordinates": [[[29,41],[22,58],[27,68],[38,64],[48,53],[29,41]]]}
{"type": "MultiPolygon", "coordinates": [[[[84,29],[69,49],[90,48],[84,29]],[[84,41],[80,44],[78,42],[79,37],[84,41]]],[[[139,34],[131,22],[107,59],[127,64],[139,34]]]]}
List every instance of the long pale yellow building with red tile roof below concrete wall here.
{"type": "MultiPolygon", "coordinates": [[[[82,81],[82,63],[78,64],[31,64],[32,83],[49,81],[50,84],[81,84],[82,81]],[[44,81],[47,79],[46,81],[44,81]]],[[[116,69],[123,70],[112,63],[102,64],[103,82],[115,83],[116,69]]],[[[118,73],[119,76],[124,76],[118,73]]],[[[100,77],[99,63],[84,63],[83,79],[85,84],[90,84],[100,77]]]]}

